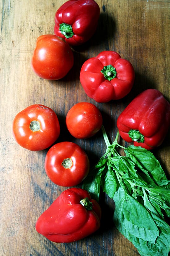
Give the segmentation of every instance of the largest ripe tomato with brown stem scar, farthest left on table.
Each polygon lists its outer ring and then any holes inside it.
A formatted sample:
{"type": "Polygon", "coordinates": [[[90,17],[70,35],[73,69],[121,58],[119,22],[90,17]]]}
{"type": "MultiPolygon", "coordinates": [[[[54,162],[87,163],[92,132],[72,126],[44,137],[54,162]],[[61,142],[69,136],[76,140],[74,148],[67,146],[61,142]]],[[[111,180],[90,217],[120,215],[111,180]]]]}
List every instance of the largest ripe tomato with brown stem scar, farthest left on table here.
{"type": "Polygon", "coordinates": [[[60,125],[51,108],[35,104],[15,116],[12,132],[20,146],[37,151],[48,148],[57,140],[60,125]]]}

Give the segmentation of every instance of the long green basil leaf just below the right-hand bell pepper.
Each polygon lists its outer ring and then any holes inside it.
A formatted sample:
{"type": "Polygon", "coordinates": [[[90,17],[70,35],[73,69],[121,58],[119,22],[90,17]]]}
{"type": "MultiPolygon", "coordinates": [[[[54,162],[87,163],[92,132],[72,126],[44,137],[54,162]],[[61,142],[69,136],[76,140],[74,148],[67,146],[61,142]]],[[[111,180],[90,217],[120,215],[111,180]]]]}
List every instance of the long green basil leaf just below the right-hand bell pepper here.
{"type": "Polygon", "coordinates": [[[163,186],[169,183],[162,169],[159,161],[155,156],[142,147],[129,146],[125,149],[126,156],[128,156],[138,168],[142,170],[145,174],[149,174],[151,178],[154,179],[157,185],[163,186]]]}

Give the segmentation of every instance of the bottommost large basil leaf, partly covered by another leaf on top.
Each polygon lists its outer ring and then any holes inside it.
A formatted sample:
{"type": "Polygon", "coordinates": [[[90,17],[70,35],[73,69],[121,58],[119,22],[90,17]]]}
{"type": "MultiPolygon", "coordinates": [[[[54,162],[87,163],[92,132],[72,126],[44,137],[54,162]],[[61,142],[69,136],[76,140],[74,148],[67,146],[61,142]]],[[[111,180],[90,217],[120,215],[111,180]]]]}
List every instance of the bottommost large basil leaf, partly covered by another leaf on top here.
{"type": "MultiPolygon", "coordinates": [[[[125,236],[133,245],[138,249],[141,256],[168,256],[170,250],[170,227],[169,225],[161,220],[154,214],[152,218],[159,229],[159,235],[157,236],[155,243],[151,243],[142,238],[138,238],[135,234],[130,233],[130,228],[126,228],[124,225],[124,203],[125,203],[125,193],[119,187],[115,193],[113,200],[115,201],[115,211],[113,215],[113,221],[117,229],[125,236]]],[[[145,219],[141,216],[141,222],[145,222],[145,219]]],[[[147,237],[146,237],[147,238],[147,237]]]]}

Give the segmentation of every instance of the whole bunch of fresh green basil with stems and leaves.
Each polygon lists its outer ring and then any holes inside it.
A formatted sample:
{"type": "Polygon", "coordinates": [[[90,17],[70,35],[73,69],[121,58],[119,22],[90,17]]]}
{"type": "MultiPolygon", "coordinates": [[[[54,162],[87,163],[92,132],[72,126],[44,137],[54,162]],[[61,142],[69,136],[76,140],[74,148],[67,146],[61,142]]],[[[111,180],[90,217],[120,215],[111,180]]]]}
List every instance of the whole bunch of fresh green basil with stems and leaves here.
{"type": "Polygon", "coordinates": [[[83,189],[99,201],[100,188],[113,198],[113,221],[141,256],[166,256],[170,251],[170,182],[155,156],[142,147],[110,144],[102,127],[106,153],[83,182],[83,189]],[[116,148],[124,149],[126,156],[116,148]]]}

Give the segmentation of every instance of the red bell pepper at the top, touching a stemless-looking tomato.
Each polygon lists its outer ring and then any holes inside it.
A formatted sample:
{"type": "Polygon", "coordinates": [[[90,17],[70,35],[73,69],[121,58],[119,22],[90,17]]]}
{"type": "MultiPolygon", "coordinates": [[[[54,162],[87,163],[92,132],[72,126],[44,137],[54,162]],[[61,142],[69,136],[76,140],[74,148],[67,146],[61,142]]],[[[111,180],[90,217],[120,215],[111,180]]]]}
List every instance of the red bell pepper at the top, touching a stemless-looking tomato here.
{"type": "Polygon", "coordinates": [[[55,14],[54,34],[71,46],[87,42],[95,33],[100,7],[94,0],[70,0],[55,14]]]}

